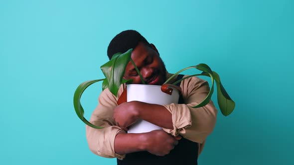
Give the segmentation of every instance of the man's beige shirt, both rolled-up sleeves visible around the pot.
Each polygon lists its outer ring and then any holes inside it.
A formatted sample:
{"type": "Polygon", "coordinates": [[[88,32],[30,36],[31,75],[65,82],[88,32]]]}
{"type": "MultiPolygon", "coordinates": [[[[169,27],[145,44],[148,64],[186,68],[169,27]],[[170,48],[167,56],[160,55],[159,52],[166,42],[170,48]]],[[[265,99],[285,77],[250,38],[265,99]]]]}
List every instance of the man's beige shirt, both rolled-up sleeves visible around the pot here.
{"type": "MultiPolygon", "coordinates": [[[[171,75],[168,74],[168,76],[171,75]]],[[[170,81],[170,83],[173,82],[174,80],[170,81]]],[[[162,129],[173,136],[181,135],[188,140],[197,142],[200,154],[206,137],[214,129],[217,109],[211,100],[204,107],[192,108],[207,96],[209,85],[206,81],[191,77],[182,81],[180,87],[185,104],[163,105],[172,114],[173,129],[162,129]]],[[[95,108],[90,122],[104,127],[103,129],[95,129],[86,125],[89,148],[94,154],[101,157],[125,158],[125,155],[118,155],[114,150],[116,135],[125,131],[116,126],[113,120],[113,108],[118,106],[117,100],[124,89],[125,84],[120,87],[118,97],[113,95],[108,88],[101,92],[98,106],[95,108]]]]}

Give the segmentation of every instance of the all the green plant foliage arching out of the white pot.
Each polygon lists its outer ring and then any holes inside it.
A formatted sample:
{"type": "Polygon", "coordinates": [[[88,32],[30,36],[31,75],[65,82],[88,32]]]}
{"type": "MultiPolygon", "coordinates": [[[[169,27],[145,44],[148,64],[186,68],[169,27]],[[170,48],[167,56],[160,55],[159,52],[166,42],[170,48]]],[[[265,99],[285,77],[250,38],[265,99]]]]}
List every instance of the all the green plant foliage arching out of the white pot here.
{"type": "MultiPolygon", "coordinates": [[[[115,95],[117,96],[118,94],[118,90],[120,88],[120,86],[123,83],[132,83],[132,80],[125,80],[123,79],[125,70],[126,70],[126,66],[127,64],[131,61],[132,64],[134,65],[136,71],[138,72],[141,81],[143,84],[145,84],[142,75],[140,74],[139,69],[137,68],[137,66],[135,65],[134,61],[131,58],[132,55],[132,50],[130,49],[125,53],[117,53],[115,54],[112,59],[110,61],[108,61],[107,63],[105,63],[104,65],[101,66],[101,70],[105,76],[104,79],[99,79],[99,80],[92,80],[92,81],[86,81],[84,83],[81,83],[75,93],[74,93],[74,108],[75,111],[78,115],[78,117],[87,125],[93,127],[93,128],[97,128],[97,129],[101,129],[103,127],[99,127],[96,126],[92,123],[90,123],[87,119],[85,119],[84,117],[84,109],[81,105],[80,102],[80,98],[82,96],[82,93],[84,92],[84,90],[90,86],[93,83],[97,83],[100,81],[103,81],[102,83],[102,89],[106,89],[109,88],[109,90],[115,95]]],[[[198,105],[194,106],[194,108],[198,108],[198,107],[202,107],[205,106],[206,104],[209,103],[209,100],[212,96],[212,93],[214,91],[214,82],[216,83],[217,86],[217,100],[218,100],[218,105],[219,108],[221,110],[221,113],[224,116],[228,116],[229,114],[232,113],[232,111],[235,108],[235,102],[230,98],[230,96],[228,95],[228,93],[226,92],[225,88],[223,87],[219,75],[216,72],[213,72],[209,66],[207,66],[206,64],[198,64],[196,66],[191,66],[191,67],[187,67],[184,68],[180,71],[178,71],[177,73],[175,73],[174,75],[172,75],[169,79],[166,80],[165,83],[163,83],[163,85],[160,86],[160,90],[171,95],[173,89],[177,89],[177,87],[174,84],[177,84],[181,81],[183,81],[184,79],[190,78],[190,77],[194,77],[194,76],[208,76],[211,78],[211,87],[210,87],[210,91],[208,93],[208,95],[206,96],[206,98],[200,102],[198,105]],[[188,69],[197,69],[199,71],[202,71],[201,74],[195,74],[195,75],[191,75],[188,77],[185,77],[181,80],[178,80],[176,82],[174,82],[173,84],[168,84],[168,82],[170,80],[172,80],[176,75],[178,75],[179,73],[188,70],[188,69]]]]}

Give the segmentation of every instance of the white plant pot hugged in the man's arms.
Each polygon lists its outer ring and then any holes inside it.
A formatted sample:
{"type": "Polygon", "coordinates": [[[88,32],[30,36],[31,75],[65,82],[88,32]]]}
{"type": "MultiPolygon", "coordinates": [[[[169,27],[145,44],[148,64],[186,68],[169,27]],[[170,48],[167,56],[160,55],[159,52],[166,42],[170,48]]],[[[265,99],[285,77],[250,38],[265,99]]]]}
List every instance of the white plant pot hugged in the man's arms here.
{"type": "MultiPolygon", "coordinates": [[[[160,85],[128,84],[127,101],[142,101],[160,105],[178,102],[178,90],[172,90],[171,95],[169,95],[162,92],[160,88],[160,85]]],[[[145,120],[139,120],[129,127],[128,133],[144,133],[159,129],[161,129],[161,127],[145,120]]]]}

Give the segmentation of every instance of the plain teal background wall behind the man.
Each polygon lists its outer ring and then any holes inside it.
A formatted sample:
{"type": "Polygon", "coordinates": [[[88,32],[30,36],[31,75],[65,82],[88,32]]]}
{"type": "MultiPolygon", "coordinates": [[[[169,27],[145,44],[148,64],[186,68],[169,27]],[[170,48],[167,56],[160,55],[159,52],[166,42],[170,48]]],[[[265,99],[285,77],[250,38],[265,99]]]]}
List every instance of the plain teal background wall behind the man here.
{"type": "MultiPolygon", "coordinates": [[[[115,165],[89,151],[72,99],[136,29],[170,73],[206,63],[236,102],[200,165],[293,165],[293,20],[293,0],[1,0],[0,164],[115,165]]],[[[88,119],[100,91],[83,94],[88,119]]]]}

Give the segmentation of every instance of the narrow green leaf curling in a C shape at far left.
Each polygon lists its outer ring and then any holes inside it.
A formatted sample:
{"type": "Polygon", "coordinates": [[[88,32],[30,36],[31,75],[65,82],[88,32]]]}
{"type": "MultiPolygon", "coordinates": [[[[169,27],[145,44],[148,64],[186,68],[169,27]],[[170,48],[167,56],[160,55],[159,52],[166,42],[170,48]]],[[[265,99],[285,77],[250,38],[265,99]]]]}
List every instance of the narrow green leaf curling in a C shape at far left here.
{"type": "Polygon", "coordinates": [[[77,89],[76,89],[76,91],[75,91],[75,93],[74,93],[74,99],[73,99],[74,108],[75,108],[75,111],[76,111],[78,117],[79,117],[79,118],[80,118],[85,124],[87,124],[88,126],[93,127],[93,128],[98,128],[98,129],[103,128],[103,127],[98,127],[98,126],[96,126],[96,125],[90,123],[87,119],[85,119],[85,117],[84,117],[84,109],[83,109],[83,107],[82,107],[82,105],[81,105],[80,100],[81,100],[81,96],[82,96],[83,92],[85,91],[85,89],[86,89],[88,86],[90,86],[90,85],[93,84],[93,83],[100,82],[100,81],[104,81],[104,80],[105,80],[105,79],[92,80],[92,81],[86,81],[86,82],[84,82],[84,83],[81,83],[81,84],[77,87],[77,89]]]}

